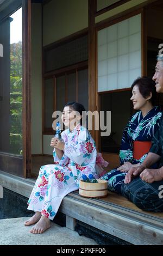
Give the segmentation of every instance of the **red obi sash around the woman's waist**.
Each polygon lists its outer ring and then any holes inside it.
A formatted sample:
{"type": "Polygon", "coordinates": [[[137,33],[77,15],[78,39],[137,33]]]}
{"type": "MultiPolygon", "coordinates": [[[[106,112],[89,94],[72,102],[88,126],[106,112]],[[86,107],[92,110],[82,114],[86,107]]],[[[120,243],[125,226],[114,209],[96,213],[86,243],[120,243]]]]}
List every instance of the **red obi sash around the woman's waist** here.
{"type": "Polygon", "coordinates": [[[133,149],[133,157],[134,159],[141,159],[143,155],[149,152],[151,148],[151,141],[133,141],[134,149],[133,149]]]}

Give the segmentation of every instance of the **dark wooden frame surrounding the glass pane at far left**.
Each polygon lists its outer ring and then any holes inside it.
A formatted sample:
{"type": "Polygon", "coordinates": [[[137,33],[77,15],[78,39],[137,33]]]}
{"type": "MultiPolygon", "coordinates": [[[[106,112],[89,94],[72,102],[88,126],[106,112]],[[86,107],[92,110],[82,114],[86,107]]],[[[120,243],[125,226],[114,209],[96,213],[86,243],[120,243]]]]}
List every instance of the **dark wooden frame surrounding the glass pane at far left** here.
{"type": "Polygon", "coordinates": [[[22,149],[23,155],[0,154],[0,169],[23,178],[31,173],[31,0],[8,1],[4,4],[2,19],[22,7],[22,149]],[[12,166],[12,170],[11,170],[12,166]]]}

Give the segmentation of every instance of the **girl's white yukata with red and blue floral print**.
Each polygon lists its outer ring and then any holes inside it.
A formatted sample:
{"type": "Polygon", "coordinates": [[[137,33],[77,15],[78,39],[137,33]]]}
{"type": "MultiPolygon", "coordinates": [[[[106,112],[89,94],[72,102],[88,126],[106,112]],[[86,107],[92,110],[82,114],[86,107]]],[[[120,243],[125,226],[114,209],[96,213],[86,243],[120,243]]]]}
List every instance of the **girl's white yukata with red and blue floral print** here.
{"type": "Polygon", "coordinates": [[[95,171],[96,145],[90,132],[77,125],[61,133],[65,151],[61,160],[53,151],[54,164],[41,166],[39,176],[28,200],[28,210],[40,211],[53,220],[66,194],[78,190],[82,174],[90,173],[98,178],[95,171]]]}

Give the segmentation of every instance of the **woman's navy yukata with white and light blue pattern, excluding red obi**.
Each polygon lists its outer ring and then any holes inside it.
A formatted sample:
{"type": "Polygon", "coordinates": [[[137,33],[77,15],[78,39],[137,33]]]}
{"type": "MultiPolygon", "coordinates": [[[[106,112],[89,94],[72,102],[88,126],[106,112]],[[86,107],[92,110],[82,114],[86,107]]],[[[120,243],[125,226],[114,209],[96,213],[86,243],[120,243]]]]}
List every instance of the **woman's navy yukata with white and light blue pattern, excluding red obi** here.
{"type": "MultiPolygon", "coordinates": [[[[120,164],[130,162],[132,164],[142,163],[148,152],[141,159],[133,157],[133,141],[151,141],[156,130],[158,130],[162,112],[160,107],[155,106],[143,117],[142,112],[136,112],[130,119],[129,123],[123,131],[121,148],[120,148],[120,164]]],[[[118,167],[117,167],[118,168],[118,167]]],[[[101,177],[108,180],[108,189],[121,194],[121,186],[124,183],[126,173],[117,169],[111,170],[101,177]]]]}

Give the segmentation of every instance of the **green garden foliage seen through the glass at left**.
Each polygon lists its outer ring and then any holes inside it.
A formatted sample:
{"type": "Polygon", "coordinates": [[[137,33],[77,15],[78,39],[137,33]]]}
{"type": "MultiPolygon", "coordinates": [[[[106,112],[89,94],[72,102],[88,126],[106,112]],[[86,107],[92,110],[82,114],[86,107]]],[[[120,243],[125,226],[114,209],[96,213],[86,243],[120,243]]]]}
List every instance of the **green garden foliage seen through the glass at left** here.
{"type": "Polygon", "coordinates": [[[10,52],[10,151],[22,154],[22,42],[10,52]]]}

